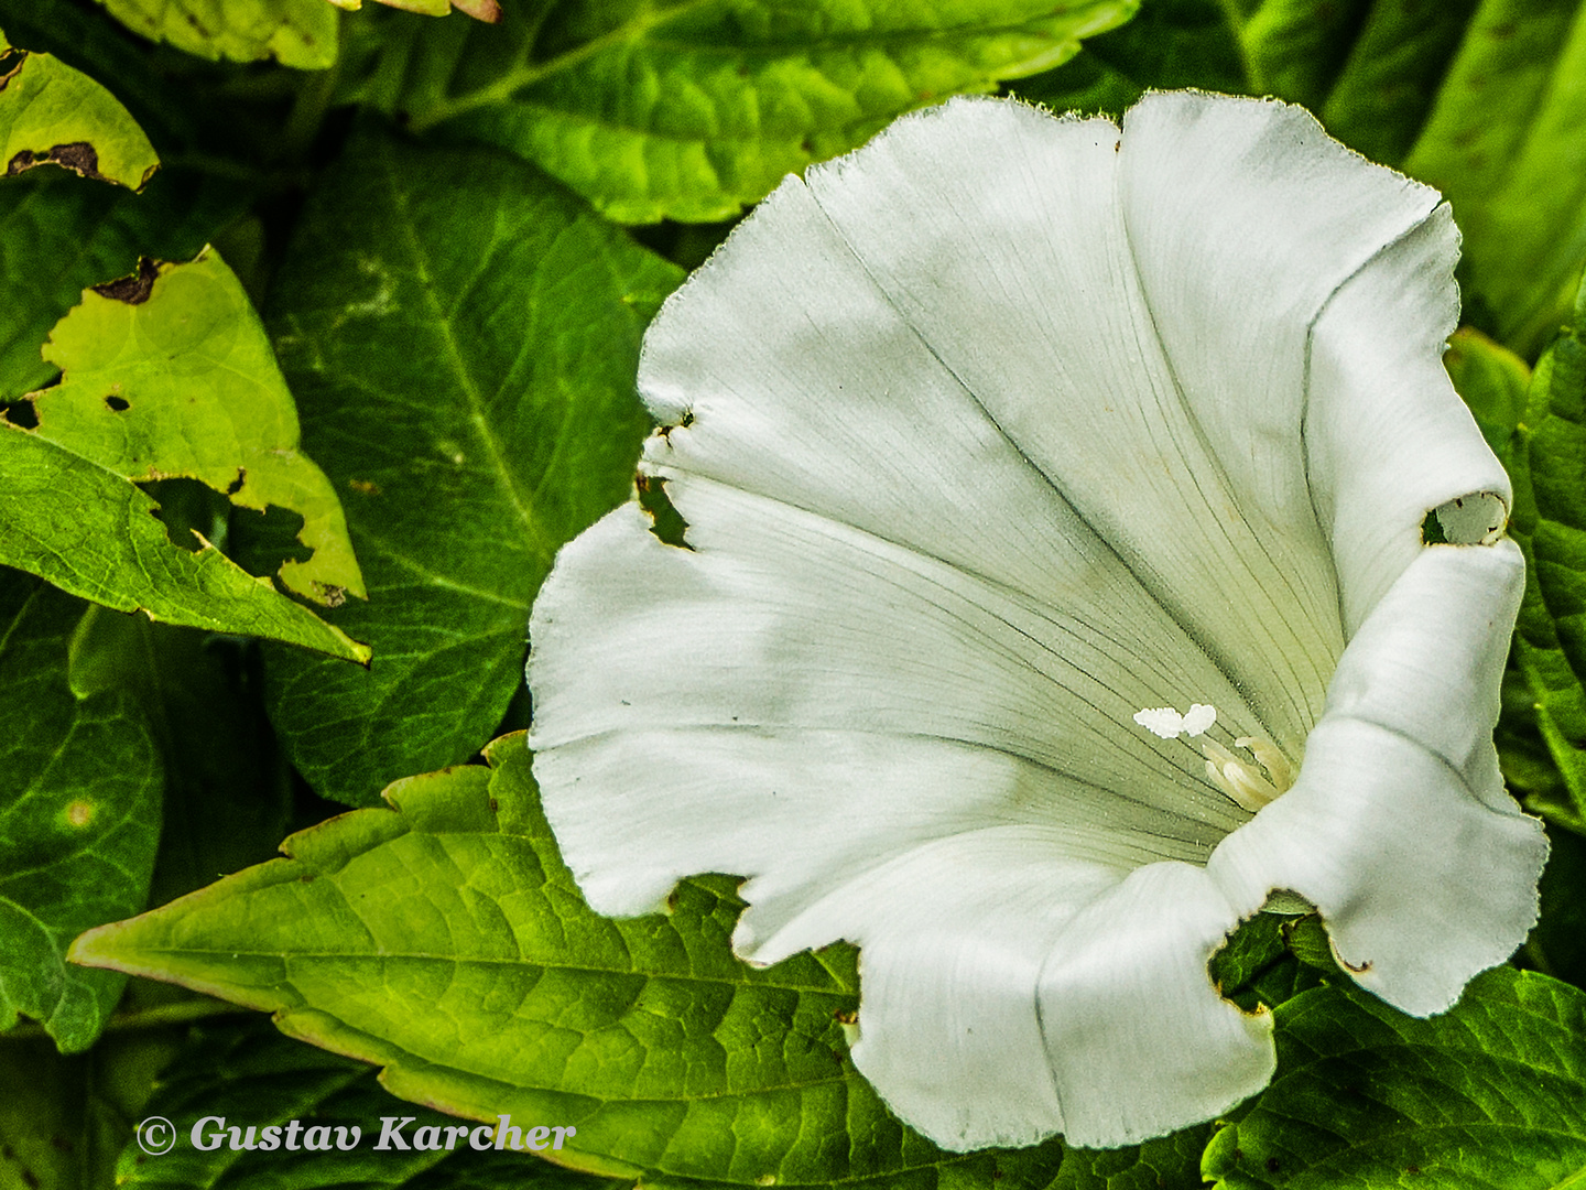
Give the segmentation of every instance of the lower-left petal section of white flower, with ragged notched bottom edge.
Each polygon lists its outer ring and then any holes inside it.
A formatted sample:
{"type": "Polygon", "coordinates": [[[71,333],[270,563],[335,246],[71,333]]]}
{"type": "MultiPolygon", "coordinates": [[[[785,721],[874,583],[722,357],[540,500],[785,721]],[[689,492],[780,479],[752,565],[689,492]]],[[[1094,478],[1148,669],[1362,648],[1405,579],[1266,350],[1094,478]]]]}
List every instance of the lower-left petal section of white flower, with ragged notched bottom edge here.
{"type": "Polygon", "coordinates": [[[1072,854],[1118,868],[1204,862],[1209,850],[1164,835],[1150,806],[928,736],[634,730],[546,749],[534,771],[546,787],[574,792],[547,808],[600,912],[653,911],[693,873],[758,873],[742,887],[749,909],[734,935],[755,962],[833,941],[839,935],[810,941],[788,927],[833,887],[958,833],[1067,823],[1072,854]],[[1105,827],[1074,825],[1083,822],[1105,827]]]}

